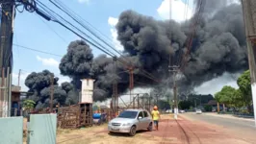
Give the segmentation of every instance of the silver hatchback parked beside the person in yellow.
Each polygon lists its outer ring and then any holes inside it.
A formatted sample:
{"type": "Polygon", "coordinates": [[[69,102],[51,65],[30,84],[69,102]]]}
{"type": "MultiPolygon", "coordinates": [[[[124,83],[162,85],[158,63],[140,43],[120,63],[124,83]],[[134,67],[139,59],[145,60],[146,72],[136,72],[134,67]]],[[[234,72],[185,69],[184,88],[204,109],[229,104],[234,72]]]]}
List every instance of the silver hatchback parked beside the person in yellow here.
{"type": "Polygon", "coordinates": [[[140,130],[147,129],[151,132],[152,128],[152,117],[145,109],[124,110],[108,124],[109,132],[129,133],[131,136],[140,130]]]}

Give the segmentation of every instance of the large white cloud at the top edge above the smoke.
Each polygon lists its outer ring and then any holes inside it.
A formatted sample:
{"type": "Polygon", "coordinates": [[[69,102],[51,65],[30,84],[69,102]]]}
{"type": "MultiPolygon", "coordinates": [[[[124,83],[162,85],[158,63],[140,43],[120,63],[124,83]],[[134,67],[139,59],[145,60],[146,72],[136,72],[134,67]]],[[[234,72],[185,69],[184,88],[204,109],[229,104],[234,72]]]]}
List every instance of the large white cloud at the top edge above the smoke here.
{"type": "Polygon", "coordinates": [[[192,3],[185,5],[182,0],[164,0],[160,7],[157,9],[157,12],[163,19],[169,19],[171,13],[171,19],[174,19],[177,22],[182,22],[185,19],[192,17],[192,3]],[[185,14],[185,12],[187,14],[185,14]]]}

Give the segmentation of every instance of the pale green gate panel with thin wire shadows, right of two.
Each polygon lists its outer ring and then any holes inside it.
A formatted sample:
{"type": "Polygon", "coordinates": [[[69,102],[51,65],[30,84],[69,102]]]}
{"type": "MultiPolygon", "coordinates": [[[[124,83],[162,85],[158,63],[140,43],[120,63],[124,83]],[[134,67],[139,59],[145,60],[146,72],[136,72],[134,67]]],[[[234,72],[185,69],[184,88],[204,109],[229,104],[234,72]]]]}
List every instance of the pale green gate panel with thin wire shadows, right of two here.
{"type": "Polygon", "coordinates": [[[28,144],[56,144],[56,129],[56,114],[31,114],[28,144]]]}

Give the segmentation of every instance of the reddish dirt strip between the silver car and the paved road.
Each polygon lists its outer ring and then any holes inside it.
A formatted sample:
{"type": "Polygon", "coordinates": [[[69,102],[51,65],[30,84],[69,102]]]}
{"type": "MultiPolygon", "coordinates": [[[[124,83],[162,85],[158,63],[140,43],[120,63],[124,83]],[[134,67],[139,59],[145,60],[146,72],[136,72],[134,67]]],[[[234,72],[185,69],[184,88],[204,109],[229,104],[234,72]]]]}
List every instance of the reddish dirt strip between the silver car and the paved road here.
{"type": "Polygon", "coordinates": [[[158,136],[159,143],[165,144],[250,144],[241,137],[225,132],[223,128],[210,124],[192,122],[179,116],[179,120],[160,121],[159,131],[144,132],[143,135],[158,136]]]}

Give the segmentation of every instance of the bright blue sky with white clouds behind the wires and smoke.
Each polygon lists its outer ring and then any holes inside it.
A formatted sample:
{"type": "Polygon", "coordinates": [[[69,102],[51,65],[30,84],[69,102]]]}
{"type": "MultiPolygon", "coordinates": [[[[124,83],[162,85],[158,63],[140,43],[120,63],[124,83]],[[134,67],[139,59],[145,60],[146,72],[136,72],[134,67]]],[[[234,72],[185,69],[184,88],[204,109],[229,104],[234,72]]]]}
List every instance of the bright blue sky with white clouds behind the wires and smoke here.
{"type": "MultiPolygon", "coordinates": [[[[40,0],[47,7],[59,12],[48,0],[40,0]]],[[[115,24],[120,12],[134,10],[141,14],[153,16],[164,20],[169,16],[169,1],[171,1],[171,18],[176,21],[184,20],[185,0],[61,0],[74,12],[90,22],[105,36],[112,39],[116,49],[122,49],[116,40],[115,24]]],[[[189,0],[188,17],[192,15],[192,0],[189,0]]],[[[20,9],[20,8],[19,8],[20,9]]],[[[64,15],[64,13],[61,13],[64,15]]],[[[48,22],[38,16],[37,13],[16,13],[14,19],[13,43],[29,48],[64,56],[70,41],[80,39],[57,23],[48,22]],[[54,30],[55,32],[53,32],[54,30]],[[59,35],[56,35],[56,33],[59,35]],[[61,36],[61,37],[60,37],[61,36]]],[[[102,54],[101,51],[92,48],[94,56],[102,54]]],[[[13,84],[17,84],[18,70],[21,69],[22,90],[27,90],[24,81],[27,75],[33,71],[39,72],[48,69],[60,78],[60,83],[69,81],[60,75],[58,68],[62,58],[41,54],[38,52],[13,46],[13,84]]],[[[229,81],[229,80],[227,80],[229,81]]],[[[204,84],[207,85],[207,84],[204,84]]],[[[209,85],[209,84],[208,84],[209,85]]],[[[212,85],[212,84],[210,84],[212,85]]],[[[204,87],[205,88],[205,87],[204,87]]],[[[218,89],[221,86],[218,86],[218,89]]],[[[200,89],[200,88],[199,88],[200,89]]],[[[206,88],[207,89],[207,88],[206,88]]],[[[207,91],[209,92],[209,91],[207,91]]]]}

